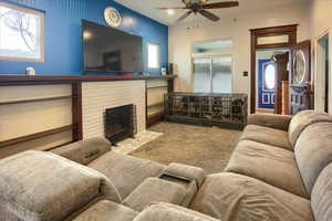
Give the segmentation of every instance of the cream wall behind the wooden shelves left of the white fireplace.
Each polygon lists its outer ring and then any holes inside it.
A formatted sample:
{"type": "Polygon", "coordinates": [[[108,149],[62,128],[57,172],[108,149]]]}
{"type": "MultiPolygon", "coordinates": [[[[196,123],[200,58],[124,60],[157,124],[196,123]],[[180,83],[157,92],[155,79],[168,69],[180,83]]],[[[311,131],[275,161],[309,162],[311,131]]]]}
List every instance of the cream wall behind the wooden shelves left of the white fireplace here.
{"type": "MultiPolygon", "coordinates": [[[[66,85],[0,86],[0,103],[70,96],[66,85]]],[[[72,124],[72,99],[0,105],[0,141],[32,135],[72,124]]],[[[44,150],[72,141],[72,131],[63,131],[35,140],[0,148],[0,158],[28,149],[44,150]]]]}

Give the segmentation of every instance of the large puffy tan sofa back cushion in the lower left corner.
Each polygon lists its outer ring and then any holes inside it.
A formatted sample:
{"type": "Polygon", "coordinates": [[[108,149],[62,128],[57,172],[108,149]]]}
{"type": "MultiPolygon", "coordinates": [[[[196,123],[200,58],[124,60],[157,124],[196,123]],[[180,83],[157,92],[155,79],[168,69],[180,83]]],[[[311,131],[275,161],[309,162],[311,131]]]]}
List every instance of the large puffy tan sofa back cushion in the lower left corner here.
{"type": "Polygon", "coordinates": [[[63,220],[97,198],[121,201],[105,176],[58,155],[24,151],[0,160],[0,220],[63,220]]]}

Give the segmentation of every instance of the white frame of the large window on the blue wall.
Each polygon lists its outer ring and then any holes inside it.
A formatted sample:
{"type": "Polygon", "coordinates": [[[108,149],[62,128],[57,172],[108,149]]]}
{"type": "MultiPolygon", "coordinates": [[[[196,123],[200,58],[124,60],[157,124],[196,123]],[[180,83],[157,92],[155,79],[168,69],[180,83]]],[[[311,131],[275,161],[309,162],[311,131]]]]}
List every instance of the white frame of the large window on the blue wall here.
{"type": "Polygon", "coordinates": [[[45,53],[44,53],[44,27],[45,27],[45,14],[44,12],[38,11],[38,10],[33,10],[33,9],[27,9],[23,7],[19,7],[15,6],[13,3],[7,3],[7,2],[0,2],[0,7],[6,7],[6,8],[10,8],[13,10],[18,10],[18,11],[23,11],[27,13],[32,13],[35,14],[40,18],[40,57],[39,59],[29,59],[29,57],[20,57],[20,56],[0,56],[0,60],[6,60],[6,61],[25,61],[25,62],[44,62],[44,57],[45,57],[45,53]]]}

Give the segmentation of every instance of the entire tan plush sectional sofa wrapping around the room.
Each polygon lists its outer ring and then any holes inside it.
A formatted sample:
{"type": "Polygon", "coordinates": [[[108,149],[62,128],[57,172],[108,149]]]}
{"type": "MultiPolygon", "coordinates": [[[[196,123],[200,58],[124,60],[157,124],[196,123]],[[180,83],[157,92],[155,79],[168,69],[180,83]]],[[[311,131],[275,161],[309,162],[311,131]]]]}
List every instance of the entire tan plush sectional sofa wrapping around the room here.
{"type": "Polygon", "coordinates": [[[224,172],[94,138],[0,160],[0,220],[330,221],[332,117],[251,115],[224,172]]]}

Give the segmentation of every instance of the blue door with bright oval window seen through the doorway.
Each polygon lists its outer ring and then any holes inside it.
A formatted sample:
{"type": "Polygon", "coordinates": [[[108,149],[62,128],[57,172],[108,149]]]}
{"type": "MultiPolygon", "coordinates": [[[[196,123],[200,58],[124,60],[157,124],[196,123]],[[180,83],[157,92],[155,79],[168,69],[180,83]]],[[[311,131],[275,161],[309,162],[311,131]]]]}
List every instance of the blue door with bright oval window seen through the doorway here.
{"type": "Polygon", "coordinates": [[[259,60],[258,67],[258,107],[274,109],[274,62],[272,60],[259,60]]]}

